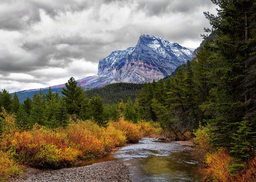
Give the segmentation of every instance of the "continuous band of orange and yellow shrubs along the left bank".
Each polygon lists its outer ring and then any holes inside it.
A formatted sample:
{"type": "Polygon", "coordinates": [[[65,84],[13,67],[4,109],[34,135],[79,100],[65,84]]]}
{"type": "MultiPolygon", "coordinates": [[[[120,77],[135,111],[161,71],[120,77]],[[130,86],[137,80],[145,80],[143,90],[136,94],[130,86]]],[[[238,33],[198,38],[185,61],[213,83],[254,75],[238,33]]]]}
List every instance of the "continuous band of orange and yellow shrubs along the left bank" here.
{"type": "Polygon", "coordinates": [[[12,115],[4,109],[0,115],[4,124],[0,136],[0,176],[3,178],[19,173],[20,166],[15,161],[60,168],[78,159],[104,154],[127,142],[138,142],[140,137],[155,132],[149,123],[136,125],[123,119],[109,122],[106,128],[76,119],[65,128],[50,130],[35,124],[32,130],[19,131],[12,115]]]}

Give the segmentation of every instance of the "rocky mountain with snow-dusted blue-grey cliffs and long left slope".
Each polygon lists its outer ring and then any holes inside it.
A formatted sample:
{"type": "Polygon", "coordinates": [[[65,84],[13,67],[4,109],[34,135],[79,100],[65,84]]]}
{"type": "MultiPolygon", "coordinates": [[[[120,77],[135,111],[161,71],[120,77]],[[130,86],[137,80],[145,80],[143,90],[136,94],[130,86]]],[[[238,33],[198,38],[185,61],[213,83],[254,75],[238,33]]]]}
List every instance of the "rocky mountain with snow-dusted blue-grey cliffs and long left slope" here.
{"type": "MultiPolygon", "coordinates": [[[[144,83],[170,75],[177,66],[192,59],[191,48],[180,46],[163,38],[144,34],[135,47],[113,51],[99,60],[98,74],[77,80],[84,89],[102,87],[115,82],[144,83]]],[[[72,75],[71,75],[72,76],[72,75]]],[[[52,86],[61,90],[64,84],[52,86]]],[[[45,88],[48,89],[48,88],[45,88]]],[[[38,89],[17,92],[18,95],[38,89]]]]}

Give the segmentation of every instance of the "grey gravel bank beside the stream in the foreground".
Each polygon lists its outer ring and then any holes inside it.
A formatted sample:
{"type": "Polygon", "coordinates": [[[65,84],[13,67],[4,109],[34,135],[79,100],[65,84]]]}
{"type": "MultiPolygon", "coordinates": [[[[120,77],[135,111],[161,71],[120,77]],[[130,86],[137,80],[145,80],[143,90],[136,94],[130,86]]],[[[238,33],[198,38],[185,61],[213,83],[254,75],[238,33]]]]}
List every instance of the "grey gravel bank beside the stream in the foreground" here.
{"type": "Polygon", "coordinates": [[[59,170],[28,168],[20,177],[10,181],[118,181],[130,182],[129,171],[123,161],[106,161],[93,165],[59,170]]]}

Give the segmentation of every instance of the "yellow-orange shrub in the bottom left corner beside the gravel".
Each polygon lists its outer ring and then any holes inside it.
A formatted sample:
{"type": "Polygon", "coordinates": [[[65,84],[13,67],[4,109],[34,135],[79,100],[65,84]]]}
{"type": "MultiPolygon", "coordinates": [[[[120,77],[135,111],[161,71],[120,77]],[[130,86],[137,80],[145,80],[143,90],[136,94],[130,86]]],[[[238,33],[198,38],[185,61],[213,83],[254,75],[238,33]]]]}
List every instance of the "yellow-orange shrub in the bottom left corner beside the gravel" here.
{"type": "Polygon", "coordinates": [[[23,167],[10,158],[7,152],[0,150],[0,181],[23,172],[23,167]]]}

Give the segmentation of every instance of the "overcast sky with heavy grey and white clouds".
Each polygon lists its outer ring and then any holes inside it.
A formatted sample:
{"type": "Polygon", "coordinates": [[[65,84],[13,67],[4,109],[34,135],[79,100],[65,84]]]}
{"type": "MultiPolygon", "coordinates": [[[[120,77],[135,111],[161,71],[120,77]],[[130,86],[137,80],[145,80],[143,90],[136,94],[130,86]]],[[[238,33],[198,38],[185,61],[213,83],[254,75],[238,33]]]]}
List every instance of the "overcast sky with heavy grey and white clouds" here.
{"type": "Polygon", "coordinates": [[[99,59],[150,33],[199,46],[210,0],[0,0],[0,89],[97,74],[99,59]]]}

